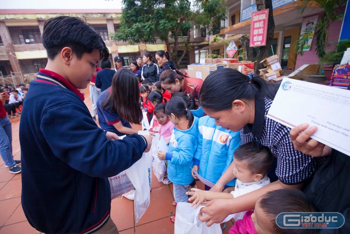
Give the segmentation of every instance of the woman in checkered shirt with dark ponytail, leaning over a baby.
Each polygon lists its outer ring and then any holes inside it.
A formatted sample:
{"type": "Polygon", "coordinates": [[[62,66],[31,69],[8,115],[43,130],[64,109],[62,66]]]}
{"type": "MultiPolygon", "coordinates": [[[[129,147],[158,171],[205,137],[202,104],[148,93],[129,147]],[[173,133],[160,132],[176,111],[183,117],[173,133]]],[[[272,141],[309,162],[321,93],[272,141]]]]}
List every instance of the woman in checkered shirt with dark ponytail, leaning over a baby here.
{"type": "MultiPolygon", "coordinates": [[[[255,141],[267,147],[277,159],[278,180],[232,200],[214,199],[205,203],[201,221],[207,225],[222,221],[228,214],[253,209],[259,196],[267,191],[297,188],[312,178],[323,158],[312,158],[294,149],[289,128],[266,117],[277,87],[252,73],[223,68],[211,73],[203,82],[199,103],[204,112],[215,119],[216,125],[239,131],[241,144],[255,141]]],[[[233,179],[231,164],[211,188],[222,191],[224,184],[233,179]]]]}

